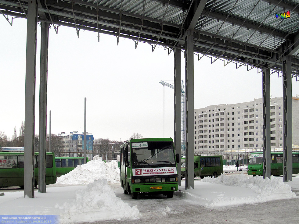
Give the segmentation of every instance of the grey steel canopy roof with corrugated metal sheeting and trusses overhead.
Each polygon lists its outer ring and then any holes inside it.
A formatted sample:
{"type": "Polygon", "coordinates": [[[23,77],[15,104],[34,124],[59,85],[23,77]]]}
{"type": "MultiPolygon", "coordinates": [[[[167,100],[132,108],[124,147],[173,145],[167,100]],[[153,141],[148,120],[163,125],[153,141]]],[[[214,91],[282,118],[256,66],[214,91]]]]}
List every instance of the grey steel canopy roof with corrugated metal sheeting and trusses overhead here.
{"type": "MultiPolygon", "coordinates": [[[[39,1],[38,1],[39,2],[39,1]]],[[[130,38],[169,48],[185,49],[187,29],[194,31],[194,53],[260,68],[267,63],[282,72],[282,59],[292,58],[292,76],[299,64],[299,1],[278,0],[45,0],[38,4],[38,21],[130,38]],[[276,13],[290,11],[290,18],[276,13]]],[[[0,0],[3,15],[27,18],[28,2],[0,0]]],[[[9,20],[9,18],[8,18],[9,20]]]]}

